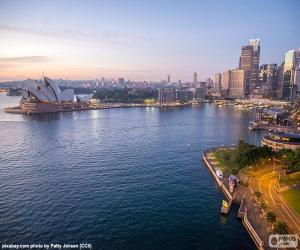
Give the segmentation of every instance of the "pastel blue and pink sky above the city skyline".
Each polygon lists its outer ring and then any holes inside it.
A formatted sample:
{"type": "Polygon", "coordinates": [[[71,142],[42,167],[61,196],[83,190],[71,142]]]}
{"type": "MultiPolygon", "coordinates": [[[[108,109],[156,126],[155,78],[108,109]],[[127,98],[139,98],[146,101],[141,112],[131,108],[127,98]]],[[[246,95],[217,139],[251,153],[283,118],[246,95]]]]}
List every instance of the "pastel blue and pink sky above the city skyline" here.
{"type": "Polygon", "coordinates": [[[260,63],[281,64],[300,47],[299,13],[299,0],[0,0],[0,81],[205,80],[251,38],[260,63]]]}

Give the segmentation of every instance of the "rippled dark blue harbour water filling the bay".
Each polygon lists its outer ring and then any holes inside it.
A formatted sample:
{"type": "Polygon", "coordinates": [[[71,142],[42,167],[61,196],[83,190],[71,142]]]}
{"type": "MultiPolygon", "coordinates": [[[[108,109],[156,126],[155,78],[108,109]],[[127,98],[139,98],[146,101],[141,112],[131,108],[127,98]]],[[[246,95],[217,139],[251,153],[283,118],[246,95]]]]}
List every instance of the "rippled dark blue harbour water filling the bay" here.
{"type": "MultiPolygon", "coordinates": [[[[0,94],[0,108],[18,98],[0,94]]],[[[244,138],[252,112],[214,108],[0,112],[0,243],[254,249],[203,150],[244,138]],[[190,146],[188,147],[188,144],[190,146]]]]}

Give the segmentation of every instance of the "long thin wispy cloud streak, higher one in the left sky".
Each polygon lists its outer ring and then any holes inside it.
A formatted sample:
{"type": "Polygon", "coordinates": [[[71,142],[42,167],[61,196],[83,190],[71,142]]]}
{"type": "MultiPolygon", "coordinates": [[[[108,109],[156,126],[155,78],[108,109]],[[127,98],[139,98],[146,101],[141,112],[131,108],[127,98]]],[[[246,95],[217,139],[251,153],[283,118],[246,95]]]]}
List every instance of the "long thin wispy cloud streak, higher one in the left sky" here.
{"type": "Polygon", "coordinates": [[[49,26],[44,25],[43,28],[28,28],[17,27],[14,25],[0,24],[0,30],[10,32],[21,32],[27,34],[41,35],[55,38],[65,38],[70,40],[93,42],[93,43],[105,43],[114,45],[130,45],[132,43],[152,43],[153,38],[141,35],[132,34],[126,32],[105,30],[105,31],[93,31],[83,32],[79,29],[70,29],[63,26],[49,26]]]}

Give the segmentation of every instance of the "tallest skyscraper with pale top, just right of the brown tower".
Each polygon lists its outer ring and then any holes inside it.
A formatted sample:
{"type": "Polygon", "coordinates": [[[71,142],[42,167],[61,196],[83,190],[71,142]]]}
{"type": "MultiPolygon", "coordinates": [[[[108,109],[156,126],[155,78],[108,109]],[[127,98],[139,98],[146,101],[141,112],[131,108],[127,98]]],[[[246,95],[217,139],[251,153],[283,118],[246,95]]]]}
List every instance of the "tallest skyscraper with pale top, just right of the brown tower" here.
{"type": "Polygon", "coordinates": [[[249,45],[253,47],[253,61],[250,77],[250,93],[258,85],[259,58],[260,58],[260,40],[250,39],[249,45]]]}

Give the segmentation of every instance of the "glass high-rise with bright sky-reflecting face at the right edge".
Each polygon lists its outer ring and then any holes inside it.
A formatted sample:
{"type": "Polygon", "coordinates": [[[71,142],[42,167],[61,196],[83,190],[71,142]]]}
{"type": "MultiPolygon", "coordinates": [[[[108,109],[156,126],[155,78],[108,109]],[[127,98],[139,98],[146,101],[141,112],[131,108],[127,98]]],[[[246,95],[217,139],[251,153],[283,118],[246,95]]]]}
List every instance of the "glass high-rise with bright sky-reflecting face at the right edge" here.
{"type": "Polygon", "coordinates": [[[297,83],[300,81],[298,70],[300,67],[300,49],[289,50],[285,54],[283,69],[282,98],[294,101],[299,93],[297,83]]]}

